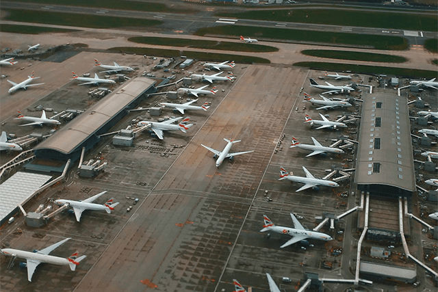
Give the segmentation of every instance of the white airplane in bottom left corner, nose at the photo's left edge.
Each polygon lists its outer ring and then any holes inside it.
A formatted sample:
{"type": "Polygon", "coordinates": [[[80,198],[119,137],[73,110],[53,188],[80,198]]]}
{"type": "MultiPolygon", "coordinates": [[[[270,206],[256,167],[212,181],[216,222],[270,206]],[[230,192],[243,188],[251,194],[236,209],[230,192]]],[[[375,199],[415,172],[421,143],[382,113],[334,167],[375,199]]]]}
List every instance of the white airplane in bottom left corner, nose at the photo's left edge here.
{"type": "Polygon", "coordinates": [[[27,280],[32,282],[32,276],[34,276],[35,269],[38,267],[38,265],[40,265],[40,263],[69,265],[70,269],[75,271],[76,266],[79,265],[79,262],[86,258],[86,256],[77,257],[78,252],[75,252],[68,258],[49,255],[53,250],[55,250],[55,248],[68,241],[68,239],[70,238],[63,239],[62,241],[52,244],[47,248],[43,248],[42,250],[38,250],[37,252],[26,252],[25,250],[16,250],[14,248],[3,248],[0,250],[0,253],[5,256],[13,256],[14,258],[25,258],[27,267],[27,280]]]}

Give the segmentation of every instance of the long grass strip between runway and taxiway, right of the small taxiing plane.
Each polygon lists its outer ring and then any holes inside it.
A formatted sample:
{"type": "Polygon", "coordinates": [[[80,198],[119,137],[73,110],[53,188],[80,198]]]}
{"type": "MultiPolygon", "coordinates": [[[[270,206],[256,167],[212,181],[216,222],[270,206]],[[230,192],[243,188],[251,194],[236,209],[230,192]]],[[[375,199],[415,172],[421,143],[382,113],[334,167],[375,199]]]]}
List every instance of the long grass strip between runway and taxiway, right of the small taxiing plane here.
{"type": "Polygon", "coordinates": [[[295,40],[300,42],[323,42],[352,47],[372,47],[378,50],[405,50],[407,40],[400,36],[373,36],[369,34],[346,34],[326,31],[305,31],[298,29],[276,29],[271,27],[246,27],[222,25],[205,27],[196,31],[197,35],[250,36],[266,40],[295,40]]]}

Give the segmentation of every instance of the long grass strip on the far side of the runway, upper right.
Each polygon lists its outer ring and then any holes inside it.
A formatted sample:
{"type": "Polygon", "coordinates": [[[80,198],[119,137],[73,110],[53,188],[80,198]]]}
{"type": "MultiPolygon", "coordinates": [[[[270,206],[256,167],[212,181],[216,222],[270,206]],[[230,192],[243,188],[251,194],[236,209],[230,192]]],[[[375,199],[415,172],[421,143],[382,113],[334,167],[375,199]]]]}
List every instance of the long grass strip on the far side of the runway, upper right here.
{"type": "Polygon", "coordinates": [[[438,31],[438,17],[432,14],[378,12],[341,9],[294,9],[252,10],[239,13],[219,12],[216,16],[278,21],[290,23],[318,23],[352,27],[382,27],[387,29],[411,29],[438,31]]]}

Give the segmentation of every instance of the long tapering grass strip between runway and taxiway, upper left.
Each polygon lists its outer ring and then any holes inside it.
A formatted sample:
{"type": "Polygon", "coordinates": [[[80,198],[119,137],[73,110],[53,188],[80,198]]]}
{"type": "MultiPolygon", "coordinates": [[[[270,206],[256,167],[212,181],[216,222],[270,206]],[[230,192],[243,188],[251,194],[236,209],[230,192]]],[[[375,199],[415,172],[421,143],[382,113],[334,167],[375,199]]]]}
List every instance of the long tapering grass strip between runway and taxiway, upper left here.
{"type": "Polygon", "coordinates": [[[30,10],[8,10],[8,12],[10,12],[10,14],[5,17],[5,20],[8,21],[21,21],[25,23],[45,23],[49,25],[68,25],[73,27],[92,27],[97,29],[107,29],[114,27],[149,27],[151,25],[162,24],[162,21],[150,21],[148,19],[138,18],[123,18],[30,10]]]}

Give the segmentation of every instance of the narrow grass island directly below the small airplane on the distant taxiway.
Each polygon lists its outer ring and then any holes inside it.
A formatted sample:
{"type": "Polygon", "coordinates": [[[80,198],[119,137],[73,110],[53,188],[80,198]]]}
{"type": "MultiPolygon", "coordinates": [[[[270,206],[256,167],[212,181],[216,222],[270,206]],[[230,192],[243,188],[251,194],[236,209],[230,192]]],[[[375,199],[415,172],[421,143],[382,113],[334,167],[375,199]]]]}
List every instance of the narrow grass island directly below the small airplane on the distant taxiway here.
{"type": "Polygon", "coordinates": [[[128,39],[140,44],[156,44],[159,46],[188,47],[240,52],[276,52],[279,49],[263,44],[246,44],[241,42],[216,42],[216,40],[188,40],[183,38],[133,37],[128,39]]]}

